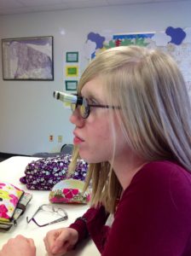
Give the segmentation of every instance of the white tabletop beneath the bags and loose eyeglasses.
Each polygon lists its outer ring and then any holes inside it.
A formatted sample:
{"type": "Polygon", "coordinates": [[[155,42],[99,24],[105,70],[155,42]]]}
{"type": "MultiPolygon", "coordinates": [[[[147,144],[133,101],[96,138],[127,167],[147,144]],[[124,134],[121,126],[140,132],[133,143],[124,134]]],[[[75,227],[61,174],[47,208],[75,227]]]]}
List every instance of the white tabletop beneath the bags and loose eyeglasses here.
{"type": "MultiPolygon", "coordinates": [[[[9,232],[0,232],[0,248],[6,241],[9,240],[10,237],[14,237],[20,234],[26,237],[32,237],[37,247],[37,256],[44,256],[47,255],[47,253],[43,245],[43,237],[46,235],[47,231],[61,227],[67,227],[76,218],[78,218],[84,212],[86,212],[88,206],[64,205],[64,208],[68,213],[68,220],[61,223],[51,224],[41,228],[38,227],[33,222],[27,224],[26,216],[32,216],[32,213],[35,212],[40,205],[44,203],[49,203],[49,191],[28,190],[26,189],[26,185],[20,183],[20,177],[25,176],[24,171],[26,165],[32,160],[37,159],[38,158],[26,156],[14,156],[9,158],[8,160],[0,162],[0,182],[13,183],[20,189],[24,189],[26,192],[32,194],[32,201],[26,208],[26,212],[24,212],[24,214],[18,220],[18,225],[16,227],[12,227],[11,230],[9,230],[9,232]]],[[[66,255],[98,256],[100,255],[100,253],[96,249],[96,246],[93,243],[93,241],[86,240],[82,244],[80,244],[75,250],[72,250],[66,255]]]]}

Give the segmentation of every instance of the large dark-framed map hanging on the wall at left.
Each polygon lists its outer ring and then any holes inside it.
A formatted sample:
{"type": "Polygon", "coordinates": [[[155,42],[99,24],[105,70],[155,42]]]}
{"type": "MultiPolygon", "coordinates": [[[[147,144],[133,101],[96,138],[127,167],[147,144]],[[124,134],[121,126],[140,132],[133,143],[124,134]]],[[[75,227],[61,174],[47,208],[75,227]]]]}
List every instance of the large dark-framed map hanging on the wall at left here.
{"type": "Polygon", "coordinates": [[[3,80],[54,80],[53,37],[2,39],[3,80]]]}

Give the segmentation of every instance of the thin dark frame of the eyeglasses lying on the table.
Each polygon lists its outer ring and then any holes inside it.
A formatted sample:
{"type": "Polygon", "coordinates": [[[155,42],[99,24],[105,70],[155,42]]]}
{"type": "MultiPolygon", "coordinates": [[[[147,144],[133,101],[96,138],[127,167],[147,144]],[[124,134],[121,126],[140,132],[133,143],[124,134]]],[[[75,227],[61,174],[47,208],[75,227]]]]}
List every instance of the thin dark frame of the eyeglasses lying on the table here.
{"type": "MultiPolygon", "coordinates": [[[[49,222],[49,223],[46,223],[46,224],[38,224],[37,220],[36,220],[34,217],[38,214],[39,211],[50,212],[50,211],[45,211],[45,210],[43,210],[43,207],[47,207],[47,206],[50,206],[50,205],[49,205],[49,204],[43,204],[42,206],[38,207],[37,211],[34,212],[34,214],[32,215],[32,218],[29,219],[28,217],[26,217],[26,222],[27,222],[27,223],[30,223],[31,221],[33,221],[35,224],[38,225],[38,227],[41,228],[41,227],[45,227],[45,226],[47,226],[47,225],[55,224],[55,223],[58,223],[58,222],[61,222],[61,221],[64,221],[64,220],[67,220],[67,219],[68,219],[67,212],[66,212],[64,209],[62,209],[62,208],[57,208],[57,210],[61,210],[62,212],[64,212],[65,216],[63,216],[63,217],[61,217],[61,218],[58,218],[58,219],[55,219],[55,220],[53,220],[53,221],[51,221],[51,222],[49,222]]],[[[51,206],[51,207],[52,207],[52,209],[53,209],[52,212],[56,212],[56,211],[55,211],[55,207],[54,207],[54,206],[51,206]]],[[[56,212],[56,213],[58,213],[58,212],[56,212]]],[[[58,213],[58,214],[59,214],[59,213],[58,213]]],[[[59,215],[61,215],[61,214],[59,214],[59,215]]]]}

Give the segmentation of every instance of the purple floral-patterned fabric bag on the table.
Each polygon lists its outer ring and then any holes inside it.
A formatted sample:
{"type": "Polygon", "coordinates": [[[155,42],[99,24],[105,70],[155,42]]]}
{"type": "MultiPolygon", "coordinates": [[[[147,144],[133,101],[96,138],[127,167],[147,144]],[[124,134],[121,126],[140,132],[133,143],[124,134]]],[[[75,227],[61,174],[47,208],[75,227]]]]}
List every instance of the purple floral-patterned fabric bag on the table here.
{"type": "MultiPolygon", "coordinates": [[[[27,189],[51,190],[53,186],[67,178],[68,166],[71,162],[71,154],[32,160],[25,170],[25,177],[20,177],[20,182],[26,184],[27,189]]],[[[84,160],[78,160],[76,170],[72,178],[84,181],[88,164],[84,160]]]]}

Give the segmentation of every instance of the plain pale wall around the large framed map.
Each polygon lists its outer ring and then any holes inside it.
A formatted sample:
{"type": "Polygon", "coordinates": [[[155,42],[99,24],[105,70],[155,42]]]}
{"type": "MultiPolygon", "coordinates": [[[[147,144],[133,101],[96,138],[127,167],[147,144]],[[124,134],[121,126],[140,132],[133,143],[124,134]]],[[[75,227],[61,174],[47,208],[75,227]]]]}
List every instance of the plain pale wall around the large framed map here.
{"type": "MultiPolygon", "coordinates": [[[[153,3],[0,16],[0,38],[54,37],[55,81],[3,81],[0,61],[0,152],[54,152],[72,143],[70,111],[53,99],[64,89],[66,51],[83,53],[89,32],[164,31],[167,26],[191,26],[190,2],[153,3]],[[61,35],[61,30],[65,35],[61,35]],[[55,141],[49,143],[49,135],[55,141]],[[63,136],[63,143],[56,137],[63,136]]],[[[0,55],[2,59],[2,55],[0,55]]],[[[80,57],[80,56],[79,56],[80,57]]],[[[82,55],[81,55],[82,59],[82,55]]],[[[81,70],[86,63],[81,63],[81,70]]]]}

